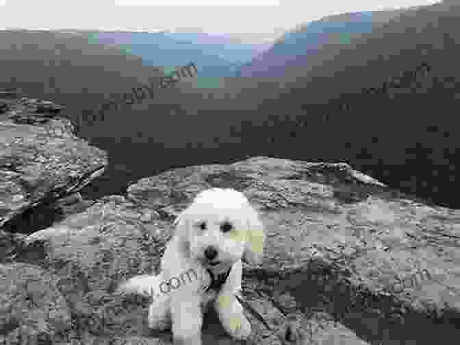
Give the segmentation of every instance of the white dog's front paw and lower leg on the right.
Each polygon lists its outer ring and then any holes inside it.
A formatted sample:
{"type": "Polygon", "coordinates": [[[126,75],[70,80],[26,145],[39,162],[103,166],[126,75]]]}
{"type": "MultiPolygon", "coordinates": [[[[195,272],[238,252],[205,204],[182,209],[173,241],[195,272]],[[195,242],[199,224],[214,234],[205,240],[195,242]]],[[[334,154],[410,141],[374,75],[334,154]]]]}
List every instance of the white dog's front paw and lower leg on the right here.
{"type": "Polygon", "coordinates": [[[214,302],[220,323],[225,331],[238,340],[251,335],[251,324],[243,313],[243,307],[233,292],[221,291],[214,302]]]}

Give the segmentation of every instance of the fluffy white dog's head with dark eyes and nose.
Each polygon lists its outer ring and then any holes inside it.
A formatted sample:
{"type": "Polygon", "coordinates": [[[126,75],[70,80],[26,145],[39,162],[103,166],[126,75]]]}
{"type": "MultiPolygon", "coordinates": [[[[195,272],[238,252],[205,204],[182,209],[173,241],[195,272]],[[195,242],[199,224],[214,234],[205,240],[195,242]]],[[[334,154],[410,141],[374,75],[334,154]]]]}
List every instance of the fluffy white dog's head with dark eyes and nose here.
{"type": "Polygon", "coordinates": [[[202,191],[174,224],[184,251],[205,267],[226,267],[242,258],[253,265],[261,261],[264,226],[239,191],[202,191]]]}

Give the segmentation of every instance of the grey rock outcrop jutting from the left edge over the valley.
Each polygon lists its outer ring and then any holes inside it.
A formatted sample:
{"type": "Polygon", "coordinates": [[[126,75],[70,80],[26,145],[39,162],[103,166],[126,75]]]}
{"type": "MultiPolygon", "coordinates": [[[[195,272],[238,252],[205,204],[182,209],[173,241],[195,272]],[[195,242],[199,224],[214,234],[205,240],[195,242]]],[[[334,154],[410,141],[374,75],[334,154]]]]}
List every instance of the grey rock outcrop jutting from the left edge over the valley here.
{"type": "Polygon", "coordinates": [[[71,121],[58,116],[64,107],[2,95],[0,262],[16,237],[94,203],[81,200],[77,192],[107,165],[107,154],[75,136],[71,121]]]}

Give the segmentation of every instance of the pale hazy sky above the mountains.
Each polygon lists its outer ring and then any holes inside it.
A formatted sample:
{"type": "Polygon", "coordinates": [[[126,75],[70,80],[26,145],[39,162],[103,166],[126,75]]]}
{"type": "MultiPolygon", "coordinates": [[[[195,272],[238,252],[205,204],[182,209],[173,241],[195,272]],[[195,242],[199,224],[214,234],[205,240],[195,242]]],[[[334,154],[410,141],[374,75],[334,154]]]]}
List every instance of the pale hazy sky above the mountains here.
{"type": "Polygon", "coordinates": [[[249,40],[271,40],[296,25],[331,14],[438,2],[440,0],[0,0],[0,25],[2,28],[144,29],[151,32],[170,29],[238,37],[252,34],[248,35],[249,40]]]}

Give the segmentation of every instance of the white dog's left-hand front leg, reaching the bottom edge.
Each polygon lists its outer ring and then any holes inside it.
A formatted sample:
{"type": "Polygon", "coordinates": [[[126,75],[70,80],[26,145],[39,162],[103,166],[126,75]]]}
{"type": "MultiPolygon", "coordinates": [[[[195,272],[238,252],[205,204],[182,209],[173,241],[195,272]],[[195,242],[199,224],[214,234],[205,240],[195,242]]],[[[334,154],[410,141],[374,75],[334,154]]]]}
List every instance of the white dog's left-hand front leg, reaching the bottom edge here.
{"type": "Polygon", "coordinates": [[[170,305],[174,345],[201,345],[203,314],[200,297],[174,298],[170,305]]]}

